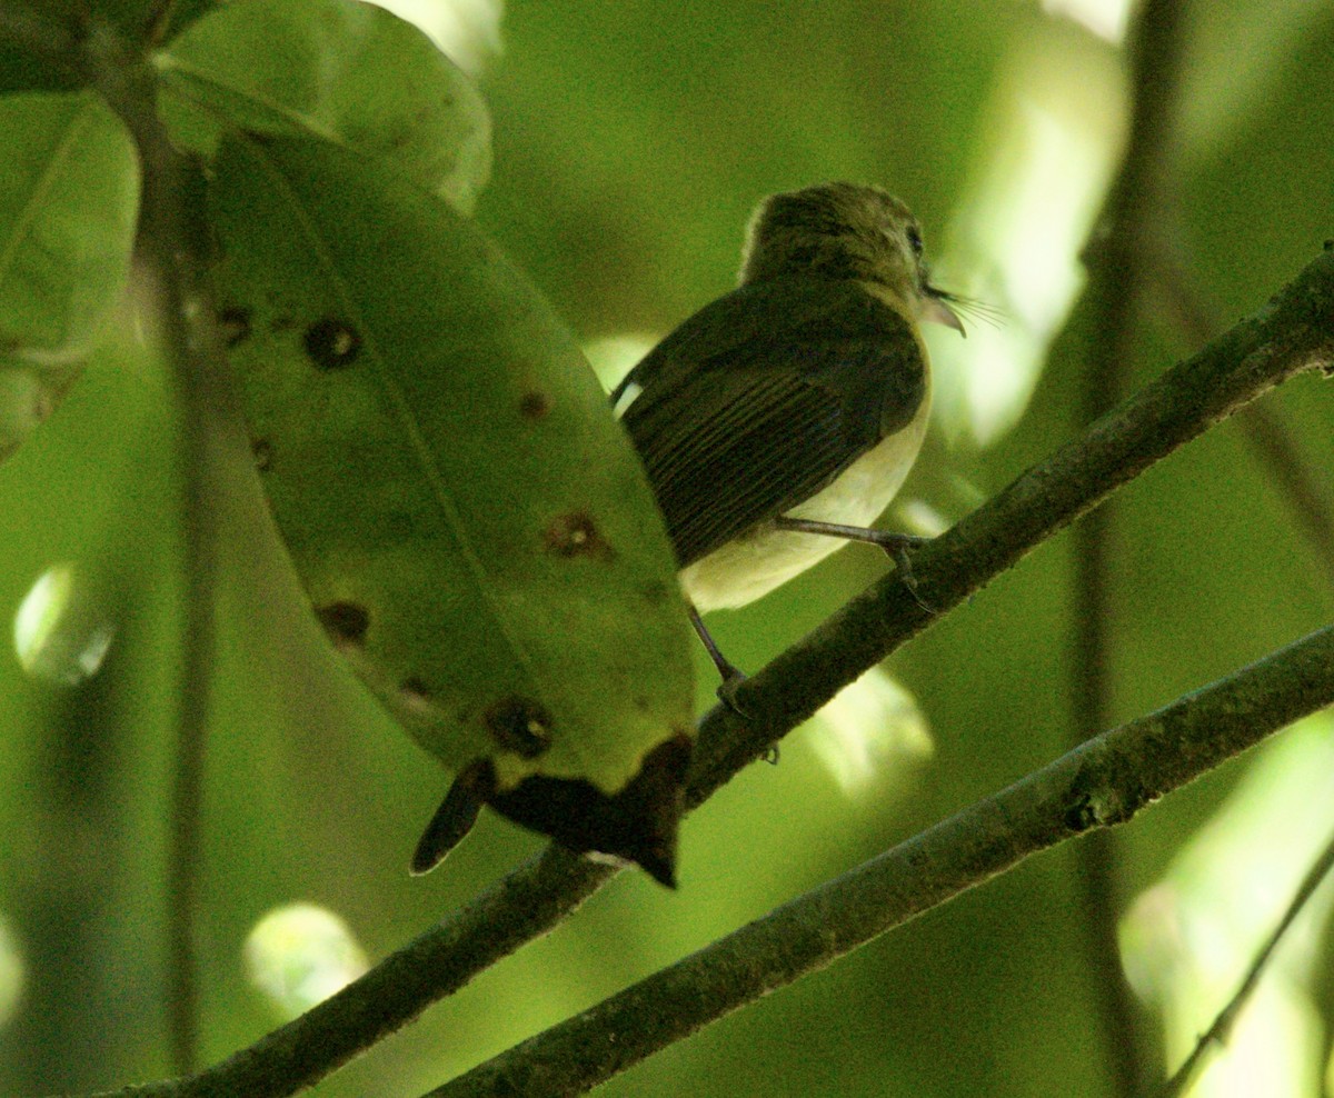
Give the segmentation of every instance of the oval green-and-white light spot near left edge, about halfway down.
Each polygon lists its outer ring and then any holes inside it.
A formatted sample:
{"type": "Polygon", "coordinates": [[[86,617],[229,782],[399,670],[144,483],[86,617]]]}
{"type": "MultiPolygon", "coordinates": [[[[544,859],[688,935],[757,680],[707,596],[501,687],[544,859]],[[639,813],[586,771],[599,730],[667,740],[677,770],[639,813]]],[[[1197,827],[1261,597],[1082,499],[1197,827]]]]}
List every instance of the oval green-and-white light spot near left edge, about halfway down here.
{"type": "Polygon", "coordinates": [[[13,619],[19,666],[57,686],[79,686],[96,675],[115,635],[108,600],[69,563],[43,572],[13,619]]]}

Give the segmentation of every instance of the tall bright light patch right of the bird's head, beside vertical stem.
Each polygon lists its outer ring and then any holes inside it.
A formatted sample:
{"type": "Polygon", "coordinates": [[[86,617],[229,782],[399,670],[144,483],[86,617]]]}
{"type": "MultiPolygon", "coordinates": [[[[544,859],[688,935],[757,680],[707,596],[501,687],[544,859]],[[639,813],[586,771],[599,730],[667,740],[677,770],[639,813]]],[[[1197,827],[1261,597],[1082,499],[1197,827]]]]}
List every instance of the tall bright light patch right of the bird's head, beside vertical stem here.
{"type": "Polygon", "coordinates": [[[1003,319],[974,326],[967,340],[924,332],[938,367],[932,415],[947,436],[983,447],[1014,428],[1037,390],[1083,286],[1079,249],[1125,137],[1125,73],[1114,55],[1066,49],[1059,27],[1042,27],[996,73],[994,124],[940,264],[942,284],[1003,319]]]}

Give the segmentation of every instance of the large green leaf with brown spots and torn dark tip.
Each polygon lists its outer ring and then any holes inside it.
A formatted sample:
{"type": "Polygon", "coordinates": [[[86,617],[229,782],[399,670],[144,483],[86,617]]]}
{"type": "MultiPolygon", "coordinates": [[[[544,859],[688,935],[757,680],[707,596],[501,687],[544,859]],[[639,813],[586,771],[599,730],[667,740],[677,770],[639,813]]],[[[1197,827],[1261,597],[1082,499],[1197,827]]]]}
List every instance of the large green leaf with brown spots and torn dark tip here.
{"type": "Polygon", "coordinates": [[[675,562],[544,299],[444,201],[334,145],[228,143],[212,207],[261,476],[335,643],[428,751],[490,760],[483,799],[520,822],[635,858],[607,827],[674,837],[692,704],[675,562]],[[670,820],[554,818],[667,746],[663,803],[635,811],[670,820]]]}

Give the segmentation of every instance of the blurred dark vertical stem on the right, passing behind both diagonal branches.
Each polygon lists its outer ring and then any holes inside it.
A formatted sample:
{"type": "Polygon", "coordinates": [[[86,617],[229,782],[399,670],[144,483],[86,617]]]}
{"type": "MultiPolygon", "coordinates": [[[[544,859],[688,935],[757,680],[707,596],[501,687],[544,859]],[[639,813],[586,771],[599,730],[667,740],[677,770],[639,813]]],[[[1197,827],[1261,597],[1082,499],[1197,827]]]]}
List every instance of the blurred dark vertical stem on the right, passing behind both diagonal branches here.
{"type": "MultiPolygon", "coordinates": [[[[1173,204],[1166,192],[1181,89],[1182,8],[1179,0],[1147,0],[1130,40],[1130,140],[1102,223],[1085,251],[1090,315],[1077,322],[1087,323],[1091,331],[1079,382],[1085,426],[1111,411],[1126,388],[1138,343],[1149,256],[1158,248],[1155,227],[1165,215],[1170,217],[1173,204]]],[[[1078,310],[1075,316],[1081,316],[1078,310]]],[[[1110,562],[1117,555],[1115,526],[1113,502],[1093,511],[1073,531],[1071,743],[1095,735],[1113,718],[1110,562]]],[[[1115,846],[1110,831],[1098,831],[1079,843],[1074,887],[1089,986],[1102,1022],[1103,1058],[1111,1069],[1115,1093],[1131,1098],[1142,1086],[1145,1055],[1134,994],[1121,966],[1115,846]]]]}

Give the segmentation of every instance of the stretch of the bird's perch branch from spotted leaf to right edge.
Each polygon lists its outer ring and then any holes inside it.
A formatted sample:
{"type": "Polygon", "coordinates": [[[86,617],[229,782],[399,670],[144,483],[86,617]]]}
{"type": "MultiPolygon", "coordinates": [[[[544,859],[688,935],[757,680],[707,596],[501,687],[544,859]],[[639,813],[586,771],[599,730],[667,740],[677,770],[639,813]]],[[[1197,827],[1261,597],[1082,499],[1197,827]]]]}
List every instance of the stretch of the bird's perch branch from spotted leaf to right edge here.
{"type": "Polygon", "coordinates": [[[890,574],[716,706],[700,724],[690,803],[707,799],[844,686],[1155,462],[1270,388],[1334,371],[1334,247],[1231,331],[914,551],[916,594],[890,574]],[[924,610],[920,603],[934,608],[924,610]]]}

